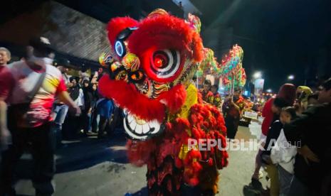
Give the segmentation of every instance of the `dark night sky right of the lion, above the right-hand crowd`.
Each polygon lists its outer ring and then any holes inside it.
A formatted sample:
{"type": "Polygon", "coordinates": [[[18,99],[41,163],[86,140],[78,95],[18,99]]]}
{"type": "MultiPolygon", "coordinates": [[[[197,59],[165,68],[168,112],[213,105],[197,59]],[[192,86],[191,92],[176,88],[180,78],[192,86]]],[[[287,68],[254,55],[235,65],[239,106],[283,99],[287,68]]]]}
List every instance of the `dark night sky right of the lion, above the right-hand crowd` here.
{"type": "MultiPolygon", "coordinates": [[[[331,66],[331,1],[192,2],[203,12],[204,28],[231,29],[231,44],[238,43],[244,50],[248,77],[261,71],[265,89],[277,92],[290,74],[295,75],[295,85],[303,85],[305,78],[314,77],[314,72],[325,75],[322,71],[331,66]]],[[[213,39],[222,42],[227,37],[213,39]]]]}

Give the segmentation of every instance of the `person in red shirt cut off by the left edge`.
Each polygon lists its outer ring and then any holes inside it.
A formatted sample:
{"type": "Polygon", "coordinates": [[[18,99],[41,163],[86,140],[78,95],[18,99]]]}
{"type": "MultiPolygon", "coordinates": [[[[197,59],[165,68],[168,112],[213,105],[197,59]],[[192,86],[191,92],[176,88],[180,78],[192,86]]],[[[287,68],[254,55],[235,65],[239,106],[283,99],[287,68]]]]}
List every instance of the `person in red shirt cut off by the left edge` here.
{"type": "Polygon", "coordinates": [[[11,73],[8,67],[6,67],[9,60],[11,60],[9,50],[7,48],[0,48],[0,154],[10,143],[10,133],[6,122],[6,100],[9,97],[9,91],[14,81],[11,81],[11,73]],[[7,83],[9,85],[6,85],[7,83]]]}

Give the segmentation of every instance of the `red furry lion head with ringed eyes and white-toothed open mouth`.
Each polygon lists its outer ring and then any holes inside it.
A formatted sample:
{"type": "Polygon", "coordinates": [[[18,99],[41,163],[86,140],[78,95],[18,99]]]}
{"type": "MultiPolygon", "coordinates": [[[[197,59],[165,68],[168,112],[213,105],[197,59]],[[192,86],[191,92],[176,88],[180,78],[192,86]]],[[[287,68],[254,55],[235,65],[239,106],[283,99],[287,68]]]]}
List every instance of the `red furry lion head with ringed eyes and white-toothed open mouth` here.
{"type": "Polygon", "coordinates": [[[99,90],[125,111],[130,138],[146,140],[161,134],[169,114],[183,106],[185,89],[203,58],[194,27],[196,23],[162,9],[141,21],[119,17],[108,23],[114,55],[100,59],[109,75],[101,78],[99,90]]]}

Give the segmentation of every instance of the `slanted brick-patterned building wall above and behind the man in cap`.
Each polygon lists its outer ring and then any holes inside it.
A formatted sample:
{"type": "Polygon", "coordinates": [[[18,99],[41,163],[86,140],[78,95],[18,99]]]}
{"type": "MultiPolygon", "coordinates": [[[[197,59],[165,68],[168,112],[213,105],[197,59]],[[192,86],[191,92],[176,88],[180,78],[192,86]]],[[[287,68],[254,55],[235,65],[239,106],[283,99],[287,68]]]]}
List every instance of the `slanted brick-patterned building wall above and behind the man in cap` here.
{"type": "Polygon", "coordinates": [[[110,50],[105,23],[56,1],[0,26],[1,42],[26,45],[33,36],[45,36],[59,52],[85,60],[98,61],[100,53],[110,50]]]}

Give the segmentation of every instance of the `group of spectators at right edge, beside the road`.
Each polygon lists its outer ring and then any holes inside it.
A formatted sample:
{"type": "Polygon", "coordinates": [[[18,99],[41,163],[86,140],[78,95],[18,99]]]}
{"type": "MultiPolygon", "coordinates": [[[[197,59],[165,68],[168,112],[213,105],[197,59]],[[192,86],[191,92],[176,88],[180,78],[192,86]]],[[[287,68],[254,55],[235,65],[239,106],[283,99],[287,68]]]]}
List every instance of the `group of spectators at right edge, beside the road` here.
{"type": "Polygon", "coordinates": [[[266,169],[270,195],[330,195],[331,78],[316,92],[285,84],[263,107],[261,141],[250,188],[261,190],[266,169]]]}

